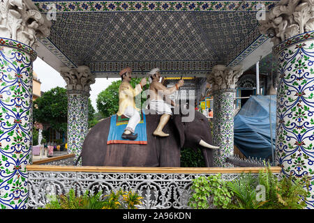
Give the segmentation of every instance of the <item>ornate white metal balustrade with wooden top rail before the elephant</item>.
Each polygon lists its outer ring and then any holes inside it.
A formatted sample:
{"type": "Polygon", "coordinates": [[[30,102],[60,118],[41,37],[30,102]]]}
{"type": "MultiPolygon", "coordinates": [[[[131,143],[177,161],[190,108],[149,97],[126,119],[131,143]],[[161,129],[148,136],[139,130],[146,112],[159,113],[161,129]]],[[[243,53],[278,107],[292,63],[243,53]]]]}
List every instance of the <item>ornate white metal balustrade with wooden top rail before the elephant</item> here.
{"type": "MultiPolygon", "coordinates": [[[[221,174],[223,180],[229,181],[239,178],[241,173],[251,172],[257,176],[263,168],[73,167],[45,165],[47,162],[27,165],[28,208],[44,207],[55,195],[66,194],[70,189],[77,194],[102,190],[104,195],[121,189],[135,191],[143,197],[142,204],[137,206],[139,209],[186,209],[190,208],[193,179],[221,174]]],[[[271,167],[271,171],[279,176],[281,168],[271,167]]]]}

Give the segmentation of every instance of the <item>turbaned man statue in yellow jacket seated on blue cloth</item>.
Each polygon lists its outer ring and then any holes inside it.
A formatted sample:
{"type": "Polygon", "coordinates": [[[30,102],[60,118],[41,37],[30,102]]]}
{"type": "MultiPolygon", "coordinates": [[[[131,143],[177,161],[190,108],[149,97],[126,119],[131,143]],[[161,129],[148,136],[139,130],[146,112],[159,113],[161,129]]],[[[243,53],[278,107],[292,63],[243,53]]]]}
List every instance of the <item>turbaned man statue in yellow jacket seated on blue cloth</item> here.
{"type": "Polygon", "coordinates": [[[142,87],[147,83],[146,78],[141,79],[140,84],[135,89],[130,84],[132,78],[131,68],[124,68],[120,71],[122,83],[119,86],[119,111],[118,116],[124,115],[129,118],[128,125],[122,134],[123,139],[134,140],[137,138],[135,127],[140,123],[140,109],[135,106],[135,96],[141,93],[142,87]]]}

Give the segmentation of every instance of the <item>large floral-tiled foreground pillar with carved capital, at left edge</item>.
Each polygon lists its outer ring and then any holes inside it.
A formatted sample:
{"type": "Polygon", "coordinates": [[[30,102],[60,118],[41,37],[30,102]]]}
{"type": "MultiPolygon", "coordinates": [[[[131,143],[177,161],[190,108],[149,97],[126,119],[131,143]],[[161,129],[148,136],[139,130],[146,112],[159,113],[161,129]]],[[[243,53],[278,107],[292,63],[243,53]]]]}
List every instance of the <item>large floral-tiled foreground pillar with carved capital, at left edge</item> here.
{"type": "Polygon", "coordinates": [[[32,148],[32,70],[50,22],[31,1],[0,1],[0,209],[27,208],[32,148]]]}

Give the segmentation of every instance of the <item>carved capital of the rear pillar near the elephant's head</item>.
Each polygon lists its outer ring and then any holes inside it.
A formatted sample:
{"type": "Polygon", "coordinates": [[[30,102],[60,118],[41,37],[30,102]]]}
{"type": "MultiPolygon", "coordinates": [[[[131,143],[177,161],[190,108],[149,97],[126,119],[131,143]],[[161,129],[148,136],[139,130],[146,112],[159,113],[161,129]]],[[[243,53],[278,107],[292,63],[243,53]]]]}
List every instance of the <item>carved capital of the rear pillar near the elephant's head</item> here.
{"type": "Polygon", "coordinates": [[[211,84],[212,91],[235,89],[242,73],[241,67],[227,68],[224,65],[216,65],[211,73],[207,75],[207,82],[211,84]]]}

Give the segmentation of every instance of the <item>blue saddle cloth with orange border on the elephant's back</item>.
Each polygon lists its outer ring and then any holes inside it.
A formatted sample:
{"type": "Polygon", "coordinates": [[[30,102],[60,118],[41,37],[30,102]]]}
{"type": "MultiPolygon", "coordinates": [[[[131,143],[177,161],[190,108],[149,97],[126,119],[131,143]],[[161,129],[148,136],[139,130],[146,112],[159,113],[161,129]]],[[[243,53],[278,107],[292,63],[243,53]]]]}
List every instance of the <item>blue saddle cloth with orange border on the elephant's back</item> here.
{"type": "Polygon", "coordinates": [[[147,144],[147,131],[146,131],[146,117],[144,112],[141,112],[141,121],[136,125],[135,140],[122,139],[122,134],[128,125],[128,119],[125,116],[117,116],[114,114],[110,118],[110,130],[107,138],[107,144],[147,144]]]}

